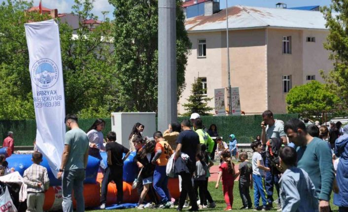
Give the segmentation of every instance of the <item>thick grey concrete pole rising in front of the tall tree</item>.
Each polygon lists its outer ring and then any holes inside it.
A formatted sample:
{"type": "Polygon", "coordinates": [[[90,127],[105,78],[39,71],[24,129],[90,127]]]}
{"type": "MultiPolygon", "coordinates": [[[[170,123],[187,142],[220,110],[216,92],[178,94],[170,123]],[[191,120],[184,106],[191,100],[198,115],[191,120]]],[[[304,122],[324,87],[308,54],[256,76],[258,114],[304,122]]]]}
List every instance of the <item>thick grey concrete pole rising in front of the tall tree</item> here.
{"type": "Polygon", "coordinates": [[[177,119],[175,0],[158,0],[158,127],[177,119]]]}

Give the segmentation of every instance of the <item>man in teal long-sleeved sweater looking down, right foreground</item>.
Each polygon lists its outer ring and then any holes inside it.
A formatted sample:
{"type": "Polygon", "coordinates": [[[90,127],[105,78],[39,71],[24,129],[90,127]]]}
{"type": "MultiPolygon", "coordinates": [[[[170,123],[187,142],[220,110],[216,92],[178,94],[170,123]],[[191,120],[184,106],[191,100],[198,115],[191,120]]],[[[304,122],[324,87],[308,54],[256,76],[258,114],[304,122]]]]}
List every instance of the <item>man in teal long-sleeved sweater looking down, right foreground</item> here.
{"type": "Polygon", "coordinates": [[[329,212],[335,176],[330,148],[321,139],[308,134],[305,123],[299,119],[287,121],[284,131],[297,146],[297,167],[308,173],[315,186],[320,212],[329,212]]]}

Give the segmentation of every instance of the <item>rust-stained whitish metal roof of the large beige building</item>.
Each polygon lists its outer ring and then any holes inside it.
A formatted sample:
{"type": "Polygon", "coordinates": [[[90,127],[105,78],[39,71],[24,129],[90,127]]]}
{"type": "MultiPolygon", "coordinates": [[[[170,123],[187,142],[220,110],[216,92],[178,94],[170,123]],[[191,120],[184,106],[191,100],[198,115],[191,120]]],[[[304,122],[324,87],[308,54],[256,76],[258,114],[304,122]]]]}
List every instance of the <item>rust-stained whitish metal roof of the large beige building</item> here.
{"type": "MultiPolygon", "coordinates": [[[[226,29],[226,9],[209,16],[186,19],[188,31],[220,31],[226,29]]],[[[323,14],[317,11],[233,6],[228,8],[229,29],[298,28],[326,30],[323,14]]]]}

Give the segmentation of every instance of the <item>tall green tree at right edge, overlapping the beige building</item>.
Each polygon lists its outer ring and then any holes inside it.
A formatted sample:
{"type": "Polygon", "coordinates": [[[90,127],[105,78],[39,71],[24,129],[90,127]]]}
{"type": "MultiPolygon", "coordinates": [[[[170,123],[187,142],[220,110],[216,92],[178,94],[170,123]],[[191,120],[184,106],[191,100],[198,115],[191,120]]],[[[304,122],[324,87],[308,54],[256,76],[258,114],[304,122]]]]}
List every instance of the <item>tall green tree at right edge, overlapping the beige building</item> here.
{"type": "Polygon", "coordinates": [[[337,93],[347,107],[348,104],[348,0],[332,0],[332,4],[321,10],[330,30],[324,47],[331,51],[329,59],[334,69],[325,74],[320,71],[330,91],[337,93]],[[333,13],[336,12],[336,13],[333,13]]]}

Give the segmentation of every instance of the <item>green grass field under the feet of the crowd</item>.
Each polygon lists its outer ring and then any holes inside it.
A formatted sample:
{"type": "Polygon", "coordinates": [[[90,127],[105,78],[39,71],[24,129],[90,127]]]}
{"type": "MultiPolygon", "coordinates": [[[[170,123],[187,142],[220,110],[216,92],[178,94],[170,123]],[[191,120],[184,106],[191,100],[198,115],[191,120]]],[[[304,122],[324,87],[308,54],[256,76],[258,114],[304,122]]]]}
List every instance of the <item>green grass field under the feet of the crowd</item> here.
{"type": "MultiPolygon", "coordinates": [[[[223,211],[226,207],[226,204],[225,204],[225,201],[224,201],[224,198],[223,198],[223,194],[222,194],[222,187],[221,187],[221,183],[220,183],[220,187],[218,189],[215,189],[214,186],[215,186],[215,182],[209,182],[209,185],[208,185],[208,189],[209,189],[209,192],[213,198],[213,200],[215,201],[216,203],[216,208],[215,209],[203,209],[201,211],[223,211]]],[[[252,212],[253,210],[239,210],[243,205],[242,205],[242,200],[240,198],[240,195],[239,195],[239,190],[238,190],[238,182],[235,182],[235,186],[234,186],[234,189],[233,189],[233,193],[234,193],[234,202],[233,202],[233,211],[235,212],[252,212]]],[[[253,201],[253,191],[251,190],[250,191],[250,197],[251,197],[251,200],[253,201]]],[[[274,194],[274,199],[277,199],[277,192],[274,194]]],[[[331,196],[331,199],[333,199],[333,197],[331,196]]],[[[262,201],[260,200],[260,203],[262,201]]],[[[332,200],[331,200],[331,209],[334,211],[334,212],[338,212],[338,207],[334,206],[332,204],[332,200]]],[[[253,206],[254,207],[254,206],[253,206]]],[[[125,209],[125,210],[122,210],[122,211],[127,211],[127,212],[153,212],[154,210],[156,209],[144,209],[144,210],[138,210],[138,209],[125,209]]],[[[161,209],[162,210],[162,209],[161,209]]],[[[166,212],[176,212],[175,209],[163,209],[165,210],[166,212]]],[[[188,209],[184,209],[183,211],[187,211],[188,209]]],[[[104,210],[95,210],[95,211],[90,211],[90,212],[102,212],[104,210]]],[[[110,210],[111,211],[111,210],[110,210]]],[[[112,211],[120,211],[120,210],[112,210],[112,211]]],[[[277,210],[272,210],[271,212],[276,212],[277,210]]]]}

